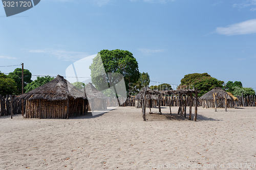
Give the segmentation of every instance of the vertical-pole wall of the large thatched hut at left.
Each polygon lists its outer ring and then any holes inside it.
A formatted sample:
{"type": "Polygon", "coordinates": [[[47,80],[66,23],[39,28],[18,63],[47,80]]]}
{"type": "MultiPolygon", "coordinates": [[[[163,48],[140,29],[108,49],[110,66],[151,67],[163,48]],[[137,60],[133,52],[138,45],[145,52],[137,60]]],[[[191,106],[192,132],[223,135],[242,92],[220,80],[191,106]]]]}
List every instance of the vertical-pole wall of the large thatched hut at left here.
{"type": "MultiPolygon", "coordinates": [[[[69,99],[69,117],[86,113],[84,102],[83,99],[69,99]]],[[[67,118],[67,101],[27,101],[26,118],[67,118]]]]}

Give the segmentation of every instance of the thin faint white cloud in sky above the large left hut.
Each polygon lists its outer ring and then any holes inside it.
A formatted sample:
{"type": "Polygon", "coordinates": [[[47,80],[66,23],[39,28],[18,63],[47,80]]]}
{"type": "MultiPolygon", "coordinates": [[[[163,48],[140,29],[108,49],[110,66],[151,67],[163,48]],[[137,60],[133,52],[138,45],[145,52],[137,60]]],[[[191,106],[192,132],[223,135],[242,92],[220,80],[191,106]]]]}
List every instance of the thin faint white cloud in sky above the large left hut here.
{"type": "Polygon", "coordinates": [[[52,49],[28,50],[28,52],[29,53],[44,53],[46,55],[56,57],[59,60],[63,60],[63,61],[76,61],[76,60],[79,60],[79,59],[89,56],[89,54],[84,53],[84,52],[70,52],[70,51],[66,51],[66,50],[52,50],[52,49]]]}

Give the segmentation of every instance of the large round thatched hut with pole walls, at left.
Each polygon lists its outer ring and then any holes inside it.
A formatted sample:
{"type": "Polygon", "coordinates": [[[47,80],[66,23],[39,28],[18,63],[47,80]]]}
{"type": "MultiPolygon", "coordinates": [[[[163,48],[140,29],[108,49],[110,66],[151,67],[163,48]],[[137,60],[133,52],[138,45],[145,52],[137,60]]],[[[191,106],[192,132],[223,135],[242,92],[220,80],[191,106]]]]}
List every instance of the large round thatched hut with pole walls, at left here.
{"type": "Polygon", "coordinates": [[[87,112],[84,92],[59,75],[18,98],[26,100],[27,118],[69,118],[87,112]]]}

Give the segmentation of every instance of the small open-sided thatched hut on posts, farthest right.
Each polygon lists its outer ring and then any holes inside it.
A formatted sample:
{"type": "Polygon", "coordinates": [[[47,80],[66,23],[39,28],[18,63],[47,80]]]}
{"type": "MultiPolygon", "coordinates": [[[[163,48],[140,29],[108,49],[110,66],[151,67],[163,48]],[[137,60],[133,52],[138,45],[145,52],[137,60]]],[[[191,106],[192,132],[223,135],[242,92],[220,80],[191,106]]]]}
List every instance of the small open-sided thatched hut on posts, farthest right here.
{"type": "Polygon", "coordinates": [[[202,95],[201,98],[199,98],[199,102],[203,108],[234,107],[234,101],[236,100],[237,98],[235,96],[224,91],[221,87],[215,87],[214,89],[202,95]]]}

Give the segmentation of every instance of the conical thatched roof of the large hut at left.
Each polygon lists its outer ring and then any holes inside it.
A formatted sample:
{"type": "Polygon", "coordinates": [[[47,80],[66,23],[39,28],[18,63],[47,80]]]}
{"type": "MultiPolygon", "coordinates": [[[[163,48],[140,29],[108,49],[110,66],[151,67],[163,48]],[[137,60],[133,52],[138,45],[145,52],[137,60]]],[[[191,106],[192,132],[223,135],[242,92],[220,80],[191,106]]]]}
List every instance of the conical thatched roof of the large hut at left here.
{"type": "Polygon", "coordinates": [[[87,99],[82,91],[59,75],[54,80],[19,95],[17,98],[25,100],[43,99],[48,101],[63,101],[68,98],[87,99]]]}

